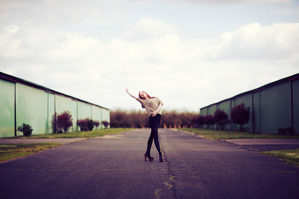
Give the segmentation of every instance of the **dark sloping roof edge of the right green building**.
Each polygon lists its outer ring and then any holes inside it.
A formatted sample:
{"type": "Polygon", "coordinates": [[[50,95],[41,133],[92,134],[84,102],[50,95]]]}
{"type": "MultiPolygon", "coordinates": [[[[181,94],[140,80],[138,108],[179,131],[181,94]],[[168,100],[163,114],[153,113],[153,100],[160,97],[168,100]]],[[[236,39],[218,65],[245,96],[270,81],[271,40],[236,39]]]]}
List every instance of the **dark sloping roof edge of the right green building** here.
{"type": "Polygon", "coordinates": [[[233,100],[233,99],[235,99],[235,98],[238,98],[238,97],[243,96],[243,95],[247,95],[247,94],[249,94],[249,93],[256,93],[256,92],[259,92],[259,91],[261,91],[261,90],[264,90],[264,89],[266,89],[266,88],[275,86],[275,85],[280,84],[280,83],[284,83],[284,82],[288,82],[288,81],[292,81],[292,80],[297,80],[297,79],[299,79],[299,73],[297,73],[297,74],[295,74],[295,75],[292,75],[292,76],[289,76],[289,77],[286,77],[286,78],[283,78],[283,79],[280,79],[280,80],[277,80],[277,81],[273,81],[273,82],[271,82],[271,83],[265,84],[265,85],[263,85],[263,86],[261,86],[261,87],[258,87],[258,88],[256,88],[256,89],[253,89],[253,90],[250,90],[250,91],[246,91],[246,92],[244,92],[244,93],[240,93],[240,94],[238,94],[238,95],[236,95],[236,96],[234,96],[234,97],[232,97],[232,98],[228,98],[228,99],[225,99],[225,100],[218,101],[218,102],[216,102],[216,103],[213,103],[213,104],[210,104],[210,105],[208,105],[208,106],[202,107],[202,108],[200,108],[200,110],[203,109],[203,108],[208,108],[208,107],[213,106],[213,105],[215,105],[215,104],[219,104],[219,103],[221,103],[221,102],[225,102],[225,101],[228,101],[228,100],[233,100]]]}

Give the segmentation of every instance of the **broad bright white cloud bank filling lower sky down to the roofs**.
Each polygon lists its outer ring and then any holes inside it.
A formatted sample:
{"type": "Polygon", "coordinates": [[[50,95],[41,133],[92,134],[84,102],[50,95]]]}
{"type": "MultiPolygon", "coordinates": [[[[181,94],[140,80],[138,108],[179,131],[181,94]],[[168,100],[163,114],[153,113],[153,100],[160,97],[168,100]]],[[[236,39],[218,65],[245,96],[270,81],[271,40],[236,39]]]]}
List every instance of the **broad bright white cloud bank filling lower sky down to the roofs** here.
{"type": "Polygon", "coordinates": [[[251,23],[216,39],[185,39],[178,31],[143,18],[103,43],[9,25],[0,34],[0,70],[108,108],[140,108],[128,87],[159,96],[165,108],[190,110],[299,71],[299,23],[251,23]]]}

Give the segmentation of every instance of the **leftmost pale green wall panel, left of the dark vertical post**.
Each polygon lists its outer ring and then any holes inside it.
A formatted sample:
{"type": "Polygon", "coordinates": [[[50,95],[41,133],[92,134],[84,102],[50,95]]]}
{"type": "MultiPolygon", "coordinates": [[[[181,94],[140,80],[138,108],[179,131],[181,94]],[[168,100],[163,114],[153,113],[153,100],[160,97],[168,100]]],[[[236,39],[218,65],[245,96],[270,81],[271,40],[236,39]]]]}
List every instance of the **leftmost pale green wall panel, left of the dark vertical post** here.
{"type": "Polygon", "coordinates": [[[0,79],[0,137],[15,136],[15,83],[0,79]]]}

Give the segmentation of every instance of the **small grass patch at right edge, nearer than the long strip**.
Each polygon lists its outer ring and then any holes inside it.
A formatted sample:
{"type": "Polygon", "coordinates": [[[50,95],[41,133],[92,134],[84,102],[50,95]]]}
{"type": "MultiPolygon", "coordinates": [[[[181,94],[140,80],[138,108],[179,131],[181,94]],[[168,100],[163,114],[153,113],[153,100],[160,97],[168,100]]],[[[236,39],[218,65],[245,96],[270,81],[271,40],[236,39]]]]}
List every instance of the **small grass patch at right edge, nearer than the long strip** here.
{"type": "Polygon", "coordinates": [[[299,167],[299,149],[279,150],[279,151],[261,151],[261,154],[275,156],[287,164],[299,167]]]}

